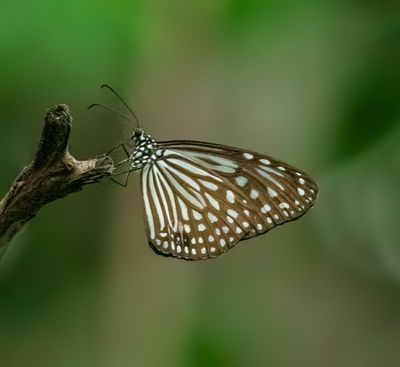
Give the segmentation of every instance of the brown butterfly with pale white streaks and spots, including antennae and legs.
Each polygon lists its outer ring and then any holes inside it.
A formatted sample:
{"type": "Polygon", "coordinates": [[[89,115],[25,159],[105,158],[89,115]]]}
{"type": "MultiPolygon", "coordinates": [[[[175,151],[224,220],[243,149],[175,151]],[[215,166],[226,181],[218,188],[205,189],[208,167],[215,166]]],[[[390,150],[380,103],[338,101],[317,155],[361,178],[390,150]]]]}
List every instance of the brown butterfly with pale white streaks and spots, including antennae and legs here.
{"type": "MultiPolygon", "coordinates": [[[[134,116],[130,142],[120,143],[128,165],[141,173],[150,247],[184,260],[215,258],[237,243],[303,216],[318,186],[302,170],[270,156],[235,147],[190,141],[156,141],[134,116]]],[[[110,109],[107,106],[94,104],[110,109]]],[[[89,108],[90,108],[89,107],[89,108]]],[[[114,111],[115,112],[115,111],[114,111]]]]}

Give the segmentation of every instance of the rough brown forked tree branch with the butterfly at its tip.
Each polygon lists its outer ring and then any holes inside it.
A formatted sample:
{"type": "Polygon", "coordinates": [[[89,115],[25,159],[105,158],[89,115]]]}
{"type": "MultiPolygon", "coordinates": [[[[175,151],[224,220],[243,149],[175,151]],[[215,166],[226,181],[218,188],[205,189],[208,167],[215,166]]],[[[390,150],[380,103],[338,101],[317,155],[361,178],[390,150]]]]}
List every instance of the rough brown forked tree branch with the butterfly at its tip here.
{"type": "Polygon", "coordinates": [[[47,111],[35,159],[0,201],[0,258],[14,235],[42,206],[111,175],[114,163],[110,157],[78,161],[69,153],[71,126],[66,105],[47,111]]]}

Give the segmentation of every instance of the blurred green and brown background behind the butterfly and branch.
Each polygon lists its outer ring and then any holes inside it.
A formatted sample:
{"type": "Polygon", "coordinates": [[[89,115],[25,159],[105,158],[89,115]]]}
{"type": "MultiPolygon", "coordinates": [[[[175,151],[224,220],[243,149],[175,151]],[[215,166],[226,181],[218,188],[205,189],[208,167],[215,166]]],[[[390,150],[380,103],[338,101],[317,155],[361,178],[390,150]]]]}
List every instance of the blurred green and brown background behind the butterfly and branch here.
{"type": "Polygon", "coordinates": [[[147,246],[138,178],[43,208],[0,265],[0,365],[398,366],[400,4],[392,1],[2,0],[0,196],[44,111],[71,151],[132,124],[249,148],[309,172],[300,221],[186,263],[147,246]]]}

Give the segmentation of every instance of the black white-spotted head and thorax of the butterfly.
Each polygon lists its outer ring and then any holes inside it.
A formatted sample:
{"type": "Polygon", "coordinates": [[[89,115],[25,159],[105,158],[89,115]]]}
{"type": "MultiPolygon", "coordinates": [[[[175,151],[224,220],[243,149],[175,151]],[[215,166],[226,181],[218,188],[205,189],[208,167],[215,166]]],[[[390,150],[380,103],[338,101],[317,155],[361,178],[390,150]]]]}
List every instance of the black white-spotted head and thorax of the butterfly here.
{"type": "Polygon", "coordinates": [[[132,139],[135,143],[135,149],[130,156],[132,162],[131,169],[138,170],[145,164],[153,164],[157,159],[156,141],[142,129],[136,129],[133,133],[132,139]]]}

